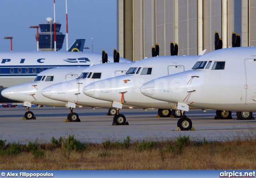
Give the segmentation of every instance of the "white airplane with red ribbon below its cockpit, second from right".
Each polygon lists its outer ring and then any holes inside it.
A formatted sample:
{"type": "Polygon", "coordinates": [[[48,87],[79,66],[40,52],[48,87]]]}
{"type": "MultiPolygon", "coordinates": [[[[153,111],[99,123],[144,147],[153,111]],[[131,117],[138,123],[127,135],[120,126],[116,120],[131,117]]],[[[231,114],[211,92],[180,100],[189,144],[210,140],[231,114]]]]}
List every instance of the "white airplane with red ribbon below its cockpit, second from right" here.
{"type": "MultiPolygon", "coordinates": [[[[158,110],[158,114],[161,117],[170,117],[170,108],[173,107],[173,103],[147,98],[140,93],[140,87],[146,81],[157,76],[170,75],[191,69],[201,55],[159,56],[142,59],[132,64],[126,75],[91,83],[84,87],[83,92],[92,98],[112,102],[112,106],[117,111],[125,105],[161,108],[158,110]]],[[[179,111],[173,110],[172,114],[178,117],[179,111]]],[[[122,125],[126,122],[126,117],[118,112],[113,120],[117,125],[122,125]]]]}

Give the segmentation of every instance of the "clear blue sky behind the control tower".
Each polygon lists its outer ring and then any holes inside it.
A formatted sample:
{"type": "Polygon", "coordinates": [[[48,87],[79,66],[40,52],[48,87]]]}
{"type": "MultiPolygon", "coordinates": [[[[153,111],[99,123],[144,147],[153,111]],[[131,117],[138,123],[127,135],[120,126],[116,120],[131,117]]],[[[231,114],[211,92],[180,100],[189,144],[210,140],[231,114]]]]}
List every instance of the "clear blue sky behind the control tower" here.
{"type": "MultiPolygon", "coordinates": [[[[116,0],[67,0],[68,45],[76,39],[86,39],[84,52],[112,54],[116,46],[116,0]]],[[[66,0],[55,0],[56,23],[66,35],[66,0]]],[[[0,51],[36,51],[36,29],[28,28],[54,18],[54,0],[1,0],[0,51]]],[[[62,49],[66,51],[66,37],[62,49]]]]}

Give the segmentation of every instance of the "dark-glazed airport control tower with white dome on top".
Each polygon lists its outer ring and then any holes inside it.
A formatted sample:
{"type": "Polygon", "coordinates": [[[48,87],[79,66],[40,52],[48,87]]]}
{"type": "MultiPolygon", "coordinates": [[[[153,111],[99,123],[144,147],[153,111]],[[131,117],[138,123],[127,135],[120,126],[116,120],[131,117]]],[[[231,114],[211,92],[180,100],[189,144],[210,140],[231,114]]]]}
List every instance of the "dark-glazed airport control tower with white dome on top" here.
{"type": "MultiPolygon", "coordinates": [[[[53,18],[46,18],[46,24],[39,24],[39,49],[42,51],[54,51],[54,24],[53,18]]],[[[62,48],[65,35],[60,32],[61,24],[56,23],[56,51],[62,48]]],[[[37,35],[35,35],[37,38],[37,35]]]]}

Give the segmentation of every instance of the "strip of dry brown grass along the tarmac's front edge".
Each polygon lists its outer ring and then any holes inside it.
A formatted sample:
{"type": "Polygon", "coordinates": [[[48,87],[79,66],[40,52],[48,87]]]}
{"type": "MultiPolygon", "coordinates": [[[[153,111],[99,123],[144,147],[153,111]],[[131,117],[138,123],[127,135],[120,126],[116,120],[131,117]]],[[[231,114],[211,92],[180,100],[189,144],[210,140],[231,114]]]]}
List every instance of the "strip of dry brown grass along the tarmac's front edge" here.
{"type": "MultiPolygon", "coordinates": [[[[79,144],[82,144],[79,142],[79,144]]],[[[105,140],[84,149],[38,144],[31,150],[1,152],[1,170],[246,170],[256,169],[256,136],[234,140],[173,140],[131,142],[105,140]]]]}

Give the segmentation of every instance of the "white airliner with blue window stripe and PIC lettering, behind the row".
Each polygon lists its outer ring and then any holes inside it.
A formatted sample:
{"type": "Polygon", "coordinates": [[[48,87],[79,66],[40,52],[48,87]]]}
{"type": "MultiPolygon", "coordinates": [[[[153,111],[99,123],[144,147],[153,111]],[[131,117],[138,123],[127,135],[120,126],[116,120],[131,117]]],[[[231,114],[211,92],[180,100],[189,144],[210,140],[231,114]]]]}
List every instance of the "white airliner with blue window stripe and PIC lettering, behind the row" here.
{"type": "MultiPolygon", "coordinates": [[[[54,67],[86,67],[92,64],[102,63],[102,60],[104,59],[105,61],[106,58],[95,53],[59,51],[1,52],[0,56],[0,92],[6,87],[30,82],[36,77],[36,75],[38,75],[38,73],[46,69],[54,67]]],[[[109,57],[107,61],[113,62],[114,57],[109,57]]],[[[130,60],[120,58],[120,62],[127,61],[130,60]]],[[[0,103],[14,102],[16,101],[0,96],[0,103]]]]}

